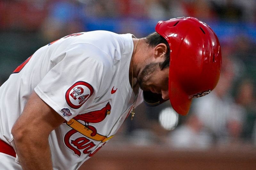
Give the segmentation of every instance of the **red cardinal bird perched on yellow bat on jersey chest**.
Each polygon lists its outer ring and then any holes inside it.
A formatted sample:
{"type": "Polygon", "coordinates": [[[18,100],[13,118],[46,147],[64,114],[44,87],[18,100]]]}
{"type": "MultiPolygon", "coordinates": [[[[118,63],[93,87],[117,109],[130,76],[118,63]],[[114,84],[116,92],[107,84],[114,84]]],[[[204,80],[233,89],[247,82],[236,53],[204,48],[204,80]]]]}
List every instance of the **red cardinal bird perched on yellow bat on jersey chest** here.
{"type": "Polygon", "coordinates": [[[85,122],[85,127],[92,130],[91,136],[95,136],[97,134],[97,130],[93,126],[89,126],[89,123],[98,123],[103,121],[107,115],[110,114],[111,106],[109,102],[103,107],[101,110],[96,110],[88,113],[84,113],[81,115],[77,115],[73,119],[81,120],[85,122]]]}

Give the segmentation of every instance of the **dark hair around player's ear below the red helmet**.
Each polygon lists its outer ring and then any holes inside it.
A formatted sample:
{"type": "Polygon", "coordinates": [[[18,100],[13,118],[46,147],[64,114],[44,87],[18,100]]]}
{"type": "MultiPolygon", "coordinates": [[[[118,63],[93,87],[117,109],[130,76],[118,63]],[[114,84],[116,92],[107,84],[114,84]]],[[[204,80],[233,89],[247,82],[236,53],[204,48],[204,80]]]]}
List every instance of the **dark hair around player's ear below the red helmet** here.
{"type": "Polygon", "coordinates": [[[146,43],[148,44],[148,47],[156,47],[158,44],[160,43],[164,43],[167,46],[167,52],[164,55],[164,62],[159,63],[159,67],[161,68],[161,70],[163,70],[166,67],[170,66],[170,46],[168,44],[168,42],[164,39],[164,37],[162,37],[159,33],[154,32],[149,34],[146,37],[146,43]]]}

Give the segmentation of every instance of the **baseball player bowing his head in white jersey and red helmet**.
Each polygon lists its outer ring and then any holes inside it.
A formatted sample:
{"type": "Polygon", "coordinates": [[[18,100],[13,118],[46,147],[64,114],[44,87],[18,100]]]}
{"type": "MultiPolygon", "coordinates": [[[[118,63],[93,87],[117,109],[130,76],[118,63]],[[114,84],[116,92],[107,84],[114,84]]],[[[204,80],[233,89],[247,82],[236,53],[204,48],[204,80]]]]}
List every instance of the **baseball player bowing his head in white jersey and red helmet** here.
{"type": "Polygon", "coordinates": [[[220,67],[217,36],[190,17],[159,21],[141,39],[92,31],[49,43],[0,87],[0,167],[78,169],[143,99],[186,115],[220,67]]]}

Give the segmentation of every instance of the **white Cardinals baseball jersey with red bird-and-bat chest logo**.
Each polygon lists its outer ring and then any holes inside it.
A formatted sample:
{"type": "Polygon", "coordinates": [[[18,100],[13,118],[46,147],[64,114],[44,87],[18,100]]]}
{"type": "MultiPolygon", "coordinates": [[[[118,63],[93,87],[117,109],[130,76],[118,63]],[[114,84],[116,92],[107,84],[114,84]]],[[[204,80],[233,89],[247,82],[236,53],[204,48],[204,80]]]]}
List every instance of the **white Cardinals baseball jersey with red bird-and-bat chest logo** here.
{"type": "Polygon", "coordinates": [[[132,51],[132,34],[107,31],[71,34],[40,48],[0,87],[0,139],[15,149],[11,129],[34,90],[67,121],[49,136],[53,168],[77,169],[130,113],[132,51]]]}

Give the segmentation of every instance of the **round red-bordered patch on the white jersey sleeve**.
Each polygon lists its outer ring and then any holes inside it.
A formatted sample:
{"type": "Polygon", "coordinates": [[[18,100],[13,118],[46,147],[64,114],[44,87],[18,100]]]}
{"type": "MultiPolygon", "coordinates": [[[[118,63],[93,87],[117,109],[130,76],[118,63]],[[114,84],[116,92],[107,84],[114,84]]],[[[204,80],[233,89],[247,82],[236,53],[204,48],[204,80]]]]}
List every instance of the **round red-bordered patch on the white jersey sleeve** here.
{"type": "Polygon", "coordinates": [[[65,98],[68,106],[78,109],[80,108],[93,94],[92,85],[84,81],[78,81],[68,88],[65,98]]]}

